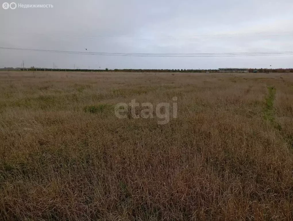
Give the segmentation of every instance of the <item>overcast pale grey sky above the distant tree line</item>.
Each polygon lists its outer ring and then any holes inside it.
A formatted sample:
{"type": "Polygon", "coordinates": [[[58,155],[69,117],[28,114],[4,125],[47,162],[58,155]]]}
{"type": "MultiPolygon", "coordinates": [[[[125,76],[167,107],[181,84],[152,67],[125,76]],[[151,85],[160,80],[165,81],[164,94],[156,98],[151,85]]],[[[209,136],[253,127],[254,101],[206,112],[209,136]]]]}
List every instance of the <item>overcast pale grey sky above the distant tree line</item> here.
{"type": "MultiPolygon", "coordinates": [[[[2,0],[4,3],[5,0],[2,0]]],[[[11,1],[6,2],[10,3],[11,1]]],[[[0,8],[0,46],[114,53],[293,51],[292,0],[22,0],[0,8]]],[[[293,55],[118,57],[0,49],[0,65],[53,68],[292,68],[293,55]]]]}

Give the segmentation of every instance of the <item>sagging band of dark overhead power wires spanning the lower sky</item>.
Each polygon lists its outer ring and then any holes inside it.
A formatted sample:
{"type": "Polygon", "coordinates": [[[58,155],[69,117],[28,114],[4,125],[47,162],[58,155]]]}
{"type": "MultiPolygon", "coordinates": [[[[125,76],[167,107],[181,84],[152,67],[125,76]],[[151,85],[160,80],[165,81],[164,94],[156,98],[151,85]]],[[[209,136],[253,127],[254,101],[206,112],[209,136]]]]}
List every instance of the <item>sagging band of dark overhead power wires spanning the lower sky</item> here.
{"type": "Polygon", "coordinates": [[[5,48],[6,50],[38,51],[48,53],[80,54],[80,55],[103,55],[103,56],[132,56],[132,57],[237,57],[237,56],[269,56],[269,55],[293,55],[293,51],[282,52],[233,52],[233,53],[110,53],[110,52],[81,52],[61,50],[41,50],[28,48],[5,48]]]}

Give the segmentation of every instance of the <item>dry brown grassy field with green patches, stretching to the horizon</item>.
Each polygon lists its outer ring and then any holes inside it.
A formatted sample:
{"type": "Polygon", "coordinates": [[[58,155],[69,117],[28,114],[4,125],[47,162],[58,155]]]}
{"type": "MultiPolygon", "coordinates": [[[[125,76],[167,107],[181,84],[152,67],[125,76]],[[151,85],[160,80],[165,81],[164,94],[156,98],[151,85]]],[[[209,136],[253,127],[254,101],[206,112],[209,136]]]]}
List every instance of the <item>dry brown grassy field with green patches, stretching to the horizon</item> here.
{"type": "Polygon", "coordinates": [[[0,219],[293,220],[292,128],[292,73],[1,71],[0,219]]]}

